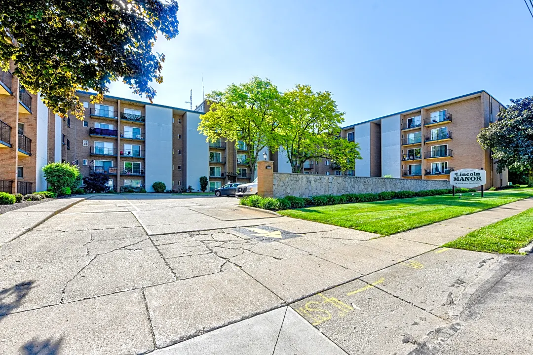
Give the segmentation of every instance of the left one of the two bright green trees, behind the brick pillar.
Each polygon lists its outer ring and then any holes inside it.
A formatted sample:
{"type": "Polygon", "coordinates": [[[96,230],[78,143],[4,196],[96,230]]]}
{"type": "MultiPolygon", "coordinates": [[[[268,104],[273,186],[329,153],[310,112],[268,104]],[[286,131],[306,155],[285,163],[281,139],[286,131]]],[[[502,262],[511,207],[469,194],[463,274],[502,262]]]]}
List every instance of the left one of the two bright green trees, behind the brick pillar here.
{"type": "Polygon", "coordinates": [[[206,95],[211,109],[200,117],[198,130],[209,141],[225,138],[244,143],[248,166],[255,175],[255,164],[265,147],[278,146],[278,88],[268,79],[253,77],[244,84],[231,84],[224,91],[206,95]]]}

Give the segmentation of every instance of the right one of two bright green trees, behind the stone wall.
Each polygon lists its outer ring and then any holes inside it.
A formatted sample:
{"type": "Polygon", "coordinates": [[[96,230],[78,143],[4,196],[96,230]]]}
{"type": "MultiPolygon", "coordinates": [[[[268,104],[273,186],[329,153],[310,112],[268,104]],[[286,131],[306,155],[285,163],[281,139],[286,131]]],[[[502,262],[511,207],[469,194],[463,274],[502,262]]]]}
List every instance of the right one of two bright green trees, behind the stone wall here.
{"type": "Polygon", "coordinates": [[[301,172],[306,161],[318,158],[334,161],[341,170],[353,169],[361,159],[359,145],[339,137],[344,112],[337,110],[331,93],[296,85],[283,94],[281,112],[279,142],[292,172],[301,172]]]}

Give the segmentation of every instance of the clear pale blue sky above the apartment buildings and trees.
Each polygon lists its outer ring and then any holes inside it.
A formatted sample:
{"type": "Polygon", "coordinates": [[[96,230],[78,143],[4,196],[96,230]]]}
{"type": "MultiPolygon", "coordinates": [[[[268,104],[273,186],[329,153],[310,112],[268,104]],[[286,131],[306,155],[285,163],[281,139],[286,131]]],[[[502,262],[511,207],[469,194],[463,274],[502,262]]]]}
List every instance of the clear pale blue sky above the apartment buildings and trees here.
{"type": "MultiPolygon", "coordinates": [[[[346,125],[487,90],[533,95],[533,18],[523,0],[179,0],[180,35],[155,102],[189,108],[257,75],[282,91],[332,92],[346,125]]],[[[160,36],[162,37],[162,36],[160,36]]],[[[111,95],[135,97],[122,83],[111,95]]]]}

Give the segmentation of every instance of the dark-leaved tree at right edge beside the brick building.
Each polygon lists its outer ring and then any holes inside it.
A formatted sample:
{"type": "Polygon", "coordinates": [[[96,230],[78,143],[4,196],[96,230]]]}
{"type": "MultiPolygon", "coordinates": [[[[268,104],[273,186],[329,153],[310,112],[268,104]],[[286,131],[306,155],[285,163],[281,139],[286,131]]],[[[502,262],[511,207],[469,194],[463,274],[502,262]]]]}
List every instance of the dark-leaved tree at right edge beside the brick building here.
{"type": "Polygon", "coordinates": [[[481,130],[478,142],[492,151],[498,172],[508,167],[526,171],[533,186],[533,96],[511,103],[500,110],[498,121],[481,130]]]}

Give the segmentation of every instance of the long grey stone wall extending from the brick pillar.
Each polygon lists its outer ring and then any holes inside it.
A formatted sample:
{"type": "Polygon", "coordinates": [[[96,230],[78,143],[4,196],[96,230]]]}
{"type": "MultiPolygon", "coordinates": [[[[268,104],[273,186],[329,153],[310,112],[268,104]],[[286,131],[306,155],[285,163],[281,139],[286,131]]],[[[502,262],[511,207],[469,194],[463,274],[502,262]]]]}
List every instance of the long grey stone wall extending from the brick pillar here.
{"type": "Polygon", "coordinates": [[[274,172],[274,197],[287,195],[311,197],[348,193],[379,193],[384,191],[422,191],[451,188],[447,180],[414,180],[357,176],[287,174],[274,172]]]}

